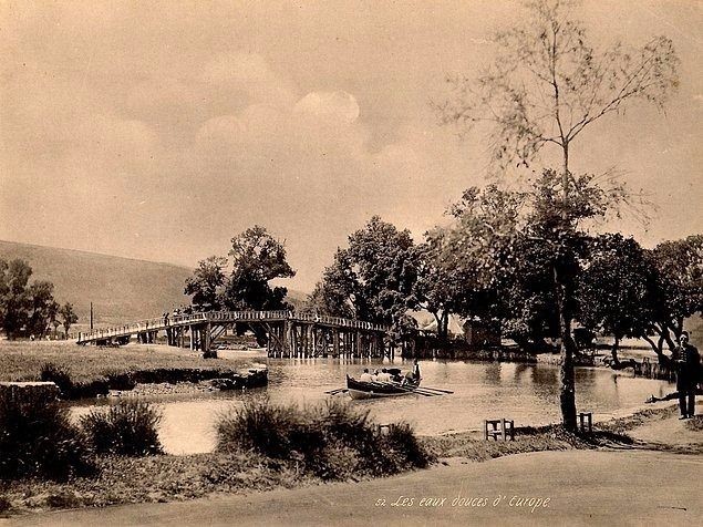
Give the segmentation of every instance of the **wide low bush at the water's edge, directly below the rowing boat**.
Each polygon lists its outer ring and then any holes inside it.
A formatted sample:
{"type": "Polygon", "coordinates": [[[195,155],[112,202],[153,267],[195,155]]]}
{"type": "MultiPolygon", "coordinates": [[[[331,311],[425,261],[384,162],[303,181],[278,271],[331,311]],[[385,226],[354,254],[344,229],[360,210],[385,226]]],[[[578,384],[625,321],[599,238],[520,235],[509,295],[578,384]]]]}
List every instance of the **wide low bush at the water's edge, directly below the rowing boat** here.
{"type": "Polygon", "coordinates": [[[432,461],[410,425],[384,433],[368,411],[335,400],[300,410],[251,399],[220,417],[217,436],[220,450],[255,451],[323,479],[395,474],[432,461]]]}

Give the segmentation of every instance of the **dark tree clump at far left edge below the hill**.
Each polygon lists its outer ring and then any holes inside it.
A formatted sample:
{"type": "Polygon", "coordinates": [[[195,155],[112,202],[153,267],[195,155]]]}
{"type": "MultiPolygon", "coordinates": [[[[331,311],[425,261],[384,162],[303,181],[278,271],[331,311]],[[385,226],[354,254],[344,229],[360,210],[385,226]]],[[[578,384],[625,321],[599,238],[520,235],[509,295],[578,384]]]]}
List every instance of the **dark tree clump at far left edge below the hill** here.
{"type": "Polygon", "coordinates": [[[30,283],[32,268],[21,259],[0,259],[0,327],[8,339],[44,338],[63,326],[68,335],[79,318],[70,302],[59,304],[54,286],[46,280],[30,283]]]}

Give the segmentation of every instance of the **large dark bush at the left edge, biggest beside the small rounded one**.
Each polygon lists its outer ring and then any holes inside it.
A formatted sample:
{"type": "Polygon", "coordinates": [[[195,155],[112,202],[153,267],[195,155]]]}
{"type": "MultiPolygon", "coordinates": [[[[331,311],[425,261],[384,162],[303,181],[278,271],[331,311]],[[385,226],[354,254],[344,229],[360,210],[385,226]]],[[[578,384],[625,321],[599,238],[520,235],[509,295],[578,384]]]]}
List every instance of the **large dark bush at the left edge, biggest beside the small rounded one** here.
{"type": "Polygon", "coordinates": [[[94,471],[69,410],[33,391],[0,394],[0,479],[68,479],[94,471]]]}

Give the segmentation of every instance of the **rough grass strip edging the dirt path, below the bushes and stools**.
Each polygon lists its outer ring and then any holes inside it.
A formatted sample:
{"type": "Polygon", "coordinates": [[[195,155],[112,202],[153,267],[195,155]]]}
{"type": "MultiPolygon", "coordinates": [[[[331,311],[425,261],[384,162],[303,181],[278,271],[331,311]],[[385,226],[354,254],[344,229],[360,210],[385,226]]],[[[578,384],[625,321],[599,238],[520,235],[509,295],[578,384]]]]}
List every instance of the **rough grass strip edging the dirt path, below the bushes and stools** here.
{"type": "MultiPolygon", "coordinates": [[[[599,426],[592,436],[566,434],[555,426],[523,427],[516,430],[515,442],[486,442],[471,434],[453,434],[422,437],[421,445],[440,459],[462,457],[472,462],[540,451],[608,446],[660,448],[661,445],[634,442],[627,432],[651,421],[669,418],[673,411],[666,407],[639,412],[599,426]]],[[[700,420],[691,423],[691,426],[699,426],[700,420]]],[[[101,457],[97,463],[100,477],[95,479],[74,478],[65,483],[23,480],[6,484],[0,488],[0,506],[4,503],[4,514],[12,515],[52,508],[188,500],[217,493],[246,494],[319,485],[325,480],[306,471],[301,464],[270,457],[254,450],[235,448],[190,456],[101,457]]],[[[347,472],[338,479],[359,480],[371,477],[373,476],[370,474],[347,472]]]]}

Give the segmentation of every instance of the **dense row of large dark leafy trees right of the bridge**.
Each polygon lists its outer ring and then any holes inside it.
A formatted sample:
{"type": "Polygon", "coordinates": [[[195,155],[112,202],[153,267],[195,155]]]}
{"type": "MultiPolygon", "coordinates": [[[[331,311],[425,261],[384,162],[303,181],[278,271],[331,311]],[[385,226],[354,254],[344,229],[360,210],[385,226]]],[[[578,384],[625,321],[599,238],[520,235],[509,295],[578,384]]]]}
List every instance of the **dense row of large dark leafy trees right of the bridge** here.
{"type": "MultiPolygon", "coordinates": [[[[557,229],[559,185],[560,175],[546,170],[527,193],[469,188],[449,210],[454,221],[417,245],[407,230],[373,217],[338,250],[309,309],[379,323],[424,309],[441,339],[457,314],[499,322],[525,350],[545,349],[560,335],[554,260],[561,251],[572,320],[614,337],[613,352],[623,338],[644,339],[665,362],[684,319],[703,311],[703,236],[644,249],[620,234],[557,229]]],[[[612,196],[588,176],[572,185],[569,218],[604,214],[612,196]]]]}

